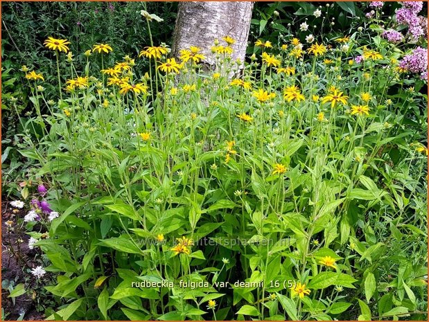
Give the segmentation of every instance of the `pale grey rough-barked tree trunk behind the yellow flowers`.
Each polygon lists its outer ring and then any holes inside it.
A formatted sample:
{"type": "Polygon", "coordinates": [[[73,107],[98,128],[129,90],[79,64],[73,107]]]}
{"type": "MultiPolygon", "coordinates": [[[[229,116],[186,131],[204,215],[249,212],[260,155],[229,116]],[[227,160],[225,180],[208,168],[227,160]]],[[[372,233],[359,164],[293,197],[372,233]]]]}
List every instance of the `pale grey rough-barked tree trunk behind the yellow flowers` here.
{"type": "Polygon", "coordinates": [[[182,49],[198,46],[206,64],[214,64],[211,47],[215,39],[227,44],[222,37],[235,39],[231,60],[244,62],[253,2],[181,2],[177,12],[172,53],[179,56],[182,49]]]}

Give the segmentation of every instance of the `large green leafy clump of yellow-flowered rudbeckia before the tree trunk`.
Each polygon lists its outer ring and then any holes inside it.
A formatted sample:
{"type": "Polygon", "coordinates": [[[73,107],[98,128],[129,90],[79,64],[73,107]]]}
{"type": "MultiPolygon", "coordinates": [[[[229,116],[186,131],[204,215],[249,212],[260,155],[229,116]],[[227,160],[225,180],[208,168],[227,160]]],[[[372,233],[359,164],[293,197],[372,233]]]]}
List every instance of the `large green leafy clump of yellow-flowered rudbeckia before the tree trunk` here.
{"type": "Polygon", "coordinates": [[[247,62],[225,35],[211,71],[198,47],[110,63],[115,44],[46,39],[58,95],[23,70],[31,171],[8,229],[37,251],[47,319],[426,319],[427,40],[368,19],[258,39],[247,62]]]}

